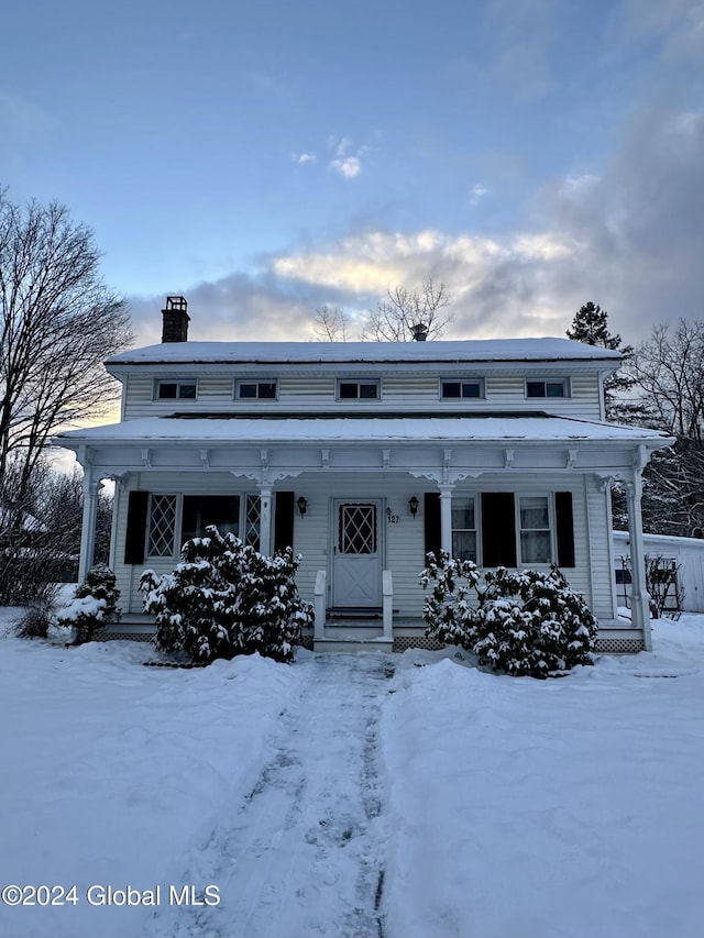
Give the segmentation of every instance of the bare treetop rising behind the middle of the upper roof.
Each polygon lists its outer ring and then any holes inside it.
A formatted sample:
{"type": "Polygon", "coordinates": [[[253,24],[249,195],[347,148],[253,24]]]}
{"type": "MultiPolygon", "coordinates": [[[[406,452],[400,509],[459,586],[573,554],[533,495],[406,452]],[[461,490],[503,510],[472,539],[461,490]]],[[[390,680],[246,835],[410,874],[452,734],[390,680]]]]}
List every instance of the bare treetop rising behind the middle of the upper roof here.
{"type": "Polygon", "coordinates": [[[444,284],[436,286],[432,278],[418,290],[393,287],[376,309],[370,310],[362,338],[376,342],[406,342],[414,338],[414,327],[425,327],[425,335],[436,339],[442,334],[453,316],[446,310],[452,297],[444,284]]]}

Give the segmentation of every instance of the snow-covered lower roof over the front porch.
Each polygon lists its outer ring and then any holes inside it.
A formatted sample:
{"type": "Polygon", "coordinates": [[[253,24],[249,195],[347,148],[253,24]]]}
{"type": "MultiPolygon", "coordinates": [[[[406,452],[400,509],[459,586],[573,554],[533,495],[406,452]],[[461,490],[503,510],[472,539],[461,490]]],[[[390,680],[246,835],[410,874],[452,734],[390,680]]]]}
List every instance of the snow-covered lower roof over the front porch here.
{"type": "Polygon", "coordinates": [[[575,420],[569,417],[360,417],[288,419],[257,418],[165,418],[145,417],[123,423],[69,430],[54,438],[57,445],[75,449],[78,445],[138,443],[148,446],[160,442],[208,443],[228,441],[315,443],[315,442],[378,442],[378,441],[448,441],[466,440],[562,440],[620,441],[667,445],[664,434],[641,427],[623,427],[575,420]]]}

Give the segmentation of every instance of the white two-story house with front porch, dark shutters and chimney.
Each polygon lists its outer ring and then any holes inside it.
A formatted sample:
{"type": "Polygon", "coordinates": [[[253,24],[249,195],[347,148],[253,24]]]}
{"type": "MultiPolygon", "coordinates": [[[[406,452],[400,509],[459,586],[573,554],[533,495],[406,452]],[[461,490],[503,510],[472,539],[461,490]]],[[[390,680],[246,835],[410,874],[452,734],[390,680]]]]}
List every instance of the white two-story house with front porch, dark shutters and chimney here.
{"type": "Polygon", "coordinates": [[[301,555],[316,648],[425,644],[418,574],[440,549],[483,569],[557,563],[598,619],[601,649],[649,648],[641,472],[671,441],[605,422],[617,352],[566,339],[191,342],[182,297],[163,319],[161,344],[106,364],[122,383],[120,422],[55,440],[85,471],[81,575],[98,487],[116,482],[121,634],[147,628],[143,571],[170,571],[184,541],[217,525],[301,555]],[[628,496],[630,622],[616,608],[615,479],[628,496]]]}

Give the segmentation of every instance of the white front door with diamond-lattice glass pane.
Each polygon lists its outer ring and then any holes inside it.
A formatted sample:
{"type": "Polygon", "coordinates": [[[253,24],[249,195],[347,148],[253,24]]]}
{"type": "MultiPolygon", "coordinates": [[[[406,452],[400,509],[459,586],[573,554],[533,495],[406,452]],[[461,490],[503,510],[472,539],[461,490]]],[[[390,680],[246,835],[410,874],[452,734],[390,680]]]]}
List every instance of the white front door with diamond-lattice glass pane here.
{"type": "Polygon", "coordinates": [[[337,501],[332,605],[366,609],[382,605],[378,501],[337,501]]]}

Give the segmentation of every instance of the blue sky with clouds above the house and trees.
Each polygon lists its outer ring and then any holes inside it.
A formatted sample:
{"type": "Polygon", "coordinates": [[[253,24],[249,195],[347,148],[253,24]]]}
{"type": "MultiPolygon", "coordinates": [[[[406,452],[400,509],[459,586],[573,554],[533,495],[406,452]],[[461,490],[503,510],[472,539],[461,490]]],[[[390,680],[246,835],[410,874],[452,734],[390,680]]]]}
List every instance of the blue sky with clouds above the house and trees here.
{"type": "Polygon", "coordinates": [[[396,285],[444,338],[704,318],[701,0],[25,0],[0,185],[89,223],[139,344],[310,339],[396,285]]]}

